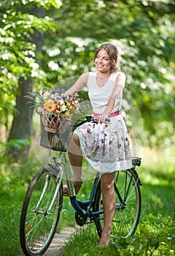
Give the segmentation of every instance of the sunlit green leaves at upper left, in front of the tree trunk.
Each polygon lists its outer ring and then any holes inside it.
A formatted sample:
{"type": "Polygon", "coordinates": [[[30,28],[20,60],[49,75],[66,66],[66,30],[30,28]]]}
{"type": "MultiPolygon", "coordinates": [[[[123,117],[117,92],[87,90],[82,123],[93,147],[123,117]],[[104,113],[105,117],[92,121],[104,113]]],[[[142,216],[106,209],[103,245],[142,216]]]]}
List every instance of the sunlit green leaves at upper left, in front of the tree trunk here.
{"type": "Polygon", "coordinates": [[[48,29],[54,32],[52,19],[49,17],[36,17],[29,13],[38,6],[55,6],[55,1],[5,1],[0,5],[0,42],[1,42],[1,68],[0,68],[0,115],[2,124],[8,121],[10,113],[15,114],[15,97],[20,93],[18,81],[20,78],[31,78],[36,84],[43,83],[46,74],[39,67],[36,45],[32,42],[34,30],[42,33],[48,29]],[[40,3],[40,4],[39,4],[40,3]],[[20,4],[18,6],[17,4],[20,4]],[[26,9],[28,8],[28,9],[26,9]]]}

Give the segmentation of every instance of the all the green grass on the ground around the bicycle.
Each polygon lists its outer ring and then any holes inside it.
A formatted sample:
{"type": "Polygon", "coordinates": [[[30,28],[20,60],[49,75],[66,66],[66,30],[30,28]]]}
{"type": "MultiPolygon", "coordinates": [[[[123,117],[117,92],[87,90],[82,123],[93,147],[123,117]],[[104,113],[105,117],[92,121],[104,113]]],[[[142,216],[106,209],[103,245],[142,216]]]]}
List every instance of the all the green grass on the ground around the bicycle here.
{"type": "MultiPolygon", "coordinates": [[[[138,173],[141,178],[142,210],[136,236],[128,240],[114,238],[114,244],[98,248],[94,225],[77,229],[64,248],[64,255],[174,255],[174,151],[145,150],[138,173]]],[[[6,157],[0,169],[0,243],[1,255],[23,255],[19,241],[20,211],[28,182],[42,166],[32,158],[27,165],[10,163],[6,157]]],[[[85,182],[79,197],[87,198],[91,181],[85,182]]],[[[64,197],[58,230],[75,225],[69,198],[64,197]]]]}

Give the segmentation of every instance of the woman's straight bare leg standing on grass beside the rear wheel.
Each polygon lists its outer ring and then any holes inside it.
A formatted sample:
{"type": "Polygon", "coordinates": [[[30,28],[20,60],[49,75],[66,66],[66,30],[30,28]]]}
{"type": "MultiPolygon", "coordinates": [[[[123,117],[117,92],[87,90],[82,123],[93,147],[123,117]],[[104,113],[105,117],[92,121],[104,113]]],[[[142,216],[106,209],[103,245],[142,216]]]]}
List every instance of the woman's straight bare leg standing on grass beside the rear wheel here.
{"type": "Polygon", "coordinates": [[[104,204],[104,230],[101,233],[98,246],[105,246],[112,241],[109,236],[111,236],[112,219],[115,211],[114,175],[115,173],[105,173],[101,175],[101,192],[104,204]]]}

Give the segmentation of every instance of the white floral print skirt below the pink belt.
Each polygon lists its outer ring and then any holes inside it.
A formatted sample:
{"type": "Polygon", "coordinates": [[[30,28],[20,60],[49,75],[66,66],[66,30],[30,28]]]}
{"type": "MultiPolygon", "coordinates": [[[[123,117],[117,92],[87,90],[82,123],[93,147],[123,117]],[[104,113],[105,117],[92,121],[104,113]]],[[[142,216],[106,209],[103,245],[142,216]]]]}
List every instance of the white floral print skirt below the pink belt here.
{"type": "Polygon", "coordinates": [[[82,124],[74,133],[82,154],[99,173],[132,167],[128,131],[121,115],[110,118],[110,124],[82,124]]]}

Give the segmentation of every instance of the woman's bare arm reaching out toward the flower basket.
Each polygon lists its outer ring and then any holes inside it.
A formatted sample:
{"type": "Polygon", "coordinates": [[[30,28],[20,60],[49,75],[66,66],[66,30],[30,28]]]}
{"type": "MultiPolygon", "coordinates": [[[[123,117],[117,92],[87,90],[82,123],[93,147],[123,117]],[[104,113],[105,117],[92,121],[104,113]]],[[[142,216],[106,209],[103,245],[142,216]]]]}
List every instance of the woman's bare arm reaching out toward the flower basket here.
{"type": "Polygon", "coordinates": [[[66,94],[73,95],[76,92],[81,91],[82,87],[87,86],[88,84],[88,75],[89,73],[86,72],[77,79],[73,86],[66,91],[66,94]]]}

